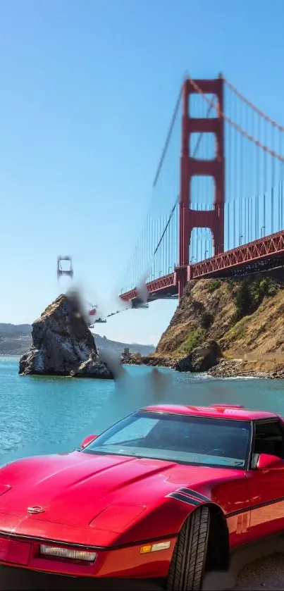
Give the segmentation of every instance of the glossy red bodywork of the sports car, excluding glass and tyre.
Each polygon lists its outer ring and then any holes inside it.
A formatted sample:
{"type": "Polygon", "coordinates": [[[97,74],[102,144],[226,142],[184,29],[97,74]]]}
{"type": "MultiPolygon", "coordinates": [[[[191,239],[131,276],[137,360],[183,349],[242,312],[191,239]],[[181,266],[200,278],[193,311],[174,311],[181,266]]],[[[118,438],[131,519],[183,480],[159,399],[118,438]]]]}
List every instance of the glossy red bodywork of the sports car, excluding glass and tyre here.
{"type": "MultiPolygon", "coordinates": [[[[277,418],[222,405],[145,410],[250,422],[277,418]]],[[[0,469],[0,563],[71,576],[166,577],[178,532],[201,504],[214,504],[226,516],[230,549],[283,528],[284,470],[276,473],[271,490],[271,478],[257,471],[156,459],[77,451],[16,461],[0,469]],[[30,514],[31,506],[43,511],[30,514]],[[159,540],[171,541],[170,547],[141,554],[142,546],[159,540]],[[40,544],[94,549],[97,559],[82,564],[42,556],[40,544]]]]}

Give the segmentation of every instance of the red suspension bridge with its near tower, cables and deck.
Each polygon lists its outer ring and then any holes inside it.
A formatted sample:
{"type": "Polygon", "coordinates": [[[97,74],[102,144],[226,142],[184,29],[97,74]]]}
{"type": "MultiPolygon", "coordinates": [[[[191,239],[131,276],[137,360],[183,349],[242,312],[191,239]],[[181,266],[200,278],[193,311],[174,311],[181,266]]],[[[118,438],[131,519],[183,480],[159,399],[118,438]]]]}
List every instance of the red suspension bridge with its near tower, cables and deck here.
{"type": "Polygon", "coordinates": [[[184,80],[124,302],[180,298],[191,279],[283,265],[283,132],[223,75],[184,80]]]}

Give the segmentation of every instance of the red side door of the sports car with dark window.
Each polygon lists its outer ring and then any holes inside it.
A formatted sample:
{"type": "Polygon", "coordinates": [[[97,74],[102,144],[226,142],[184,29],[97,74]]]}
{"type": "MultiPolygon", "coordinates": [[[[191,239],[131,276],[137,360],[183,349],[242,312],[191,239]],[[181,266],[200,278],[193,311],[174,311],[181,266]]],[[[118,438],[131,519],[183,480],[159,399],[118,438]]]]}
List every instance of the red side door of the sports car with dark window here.
{"type": "Polygon", "coordinates": [[[278,419],[254,423],[247,485],[251,505],[249,541],[284,530],[284,428],[278,419]],[[278,456],[279,466],[257,468],[261,453],[278,456]]]}

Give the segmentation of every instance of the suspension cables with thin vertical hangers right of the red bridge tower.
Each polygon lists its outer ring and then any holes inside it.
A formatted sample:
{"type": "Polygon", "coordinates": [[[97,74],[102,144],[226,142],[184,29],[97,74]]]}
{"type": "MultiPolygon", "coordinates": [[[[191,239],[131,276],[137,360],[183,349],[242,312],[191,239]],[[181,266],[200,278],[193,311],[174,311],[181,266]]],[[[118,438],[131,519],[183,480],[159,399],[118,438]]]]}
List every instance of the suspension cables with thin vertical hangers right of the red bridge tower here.
{"type": "Polygon", "coordinates": [[[284,127],[231,87],[225,86],[226,250],[284,228],[284,127]]]}

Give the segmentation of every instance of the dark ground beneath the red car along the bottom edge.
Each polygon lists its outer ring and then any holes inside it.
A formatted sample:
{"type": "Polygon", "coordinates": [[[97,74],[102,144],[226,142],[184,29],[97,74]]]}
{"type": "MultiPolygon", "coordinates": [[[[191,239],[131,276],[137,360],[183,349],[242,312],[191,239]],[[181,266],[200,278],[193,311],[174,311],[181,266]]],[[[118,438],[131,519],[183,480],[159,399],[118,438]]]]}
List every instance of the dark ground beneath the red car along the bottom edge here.
{"type": "MultiPolygon", "coordinates": [[[[214,586],[207,586],[206,588],[214,589],[234,589],[234,590],[284,590],[284,554],[274,554],[265,559],[258,559],[252,564],[245,566],[237,578],[237,584],[234,587],[223,587],[220,585],[220,580],[214,586]]],[[[225,580],[224,580],[225,583],[225,580]]],[[[95,591],[96,586],[94,580],[77,580],[73,578],[64,578],[58,576],[45,575],[41,573],[28,573],[14,568],[0,567],[0,590],[1,591],[23,591],[23,590],[37,590],[45,591],[51,588],[62,591],[95,591]]],[[[111,591],[109,583],[104,587],[105,590],[111,591]]],[[[153,585],[151,582],[137,583],[135,591],[144,589],[145,591],[157,591],[161,587],[153,585]]],[[[113,590],[125,591],[132,589],[130,587],[121,585],[118,580],[113,581],[113,590]]]]}

